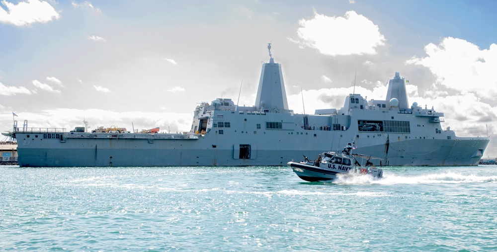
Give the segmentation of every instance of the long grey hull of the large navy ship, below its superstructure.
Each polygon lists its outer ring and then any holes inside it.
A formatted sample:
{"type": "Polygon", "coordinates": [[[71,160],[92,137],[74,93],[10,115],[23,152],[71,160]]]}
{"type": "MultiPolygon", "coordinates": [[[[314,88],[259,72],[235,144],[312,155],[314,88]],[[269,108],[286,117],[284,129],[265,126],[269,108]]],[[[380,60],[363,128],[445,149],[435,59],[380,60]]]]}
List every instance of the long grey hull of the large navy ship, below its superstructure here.
{"type": "MultiPolygon", "coordinates": [[[[317,157],[340,148],[336,141],[330,141],[337,133],[309,132],[320,137],[306,135],[303,130],[291,138],[274,131],[258,133],[265,138],[227,132],[222,137],[208,133],[184,139],[166,134],[82,133],[77,138],[64,135],[63,140],[18,132],[16,138],[21,167],[284,166],[288,160],[300,160],[302,154],[317,157]],[[241,145],[250,146],[249,155],[240,154],[241,145]]],[[[388,166],[477,166],[489,140],[415,139],[392,142],[388,152],[381,142],[361,145],[354,152],[384,158],[381,165],[388,166]]],[[[379,161],[373,163],[380,165],[379,161]]]]}

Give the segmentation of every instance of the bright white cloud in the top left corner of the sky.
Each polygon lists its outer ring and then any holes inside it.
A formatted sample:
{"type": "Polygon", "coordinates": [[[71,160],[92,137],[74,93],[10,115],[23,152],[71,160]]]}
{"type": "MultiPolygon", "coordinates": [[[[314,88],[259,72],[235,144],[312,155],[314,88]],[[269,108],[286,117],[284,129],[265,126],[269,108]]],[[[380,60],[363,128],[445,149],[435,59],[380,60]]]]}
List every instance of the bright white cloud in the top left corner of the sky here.
{"type": "Polygon", "coordinates": [[[50,3],[40,0],[21,1],[17,4],[2,0],[6,7],[0,6],[0,22],[10,23],[16,26],[27,26],[32,23],[47,23],[53,19],[59,19],[61,15],[50,3]]]}

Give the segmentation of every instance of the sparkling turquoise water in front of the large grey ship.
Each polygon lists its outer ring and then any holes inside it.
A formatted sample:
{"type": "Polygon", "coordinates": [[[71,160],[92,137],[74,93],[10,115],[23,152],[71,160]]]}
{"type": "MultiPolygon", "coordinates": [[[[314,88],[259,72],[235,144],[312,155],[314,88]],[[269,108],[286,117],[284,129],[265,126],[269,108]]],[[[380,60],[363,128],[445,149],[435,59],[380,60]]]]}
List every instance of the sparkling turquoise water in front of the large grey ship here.
{"type": "Polygon", "coordinates": [[[0,167],[0,251],[497,251],[497,166],[0,167]]]}

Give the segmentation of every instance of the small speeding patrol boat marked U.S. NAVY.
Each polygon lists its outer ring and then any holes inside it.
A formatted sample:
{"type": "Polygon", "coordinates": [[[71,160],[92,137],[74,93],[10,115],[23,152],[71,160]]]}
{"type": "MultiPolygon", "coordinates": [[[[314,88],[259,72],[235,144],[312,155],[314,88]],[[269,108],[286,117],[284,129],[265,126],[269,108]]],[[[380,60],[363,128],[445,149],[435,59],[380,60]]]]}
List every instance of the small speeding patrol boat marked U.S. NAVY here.
{"type": "Polygon", "coordinates": [[[287,166],[291,167],[300,178],[309,182],[332,181],[336,179],[338,174],[343,174],[344,176],[368,175],[373,178],[383,177],[383,169],[376,168],[370,162],[372,159],[381,160],[381,158],[350,154],[350,150],[344,150],[341,153],[325,152],[322,155],[323,158],[319,155],[319,158],[315,161],[310,161],[304,156],[304,161],[299,163],[291,161],[288,162],[287,166]],[[364,166],[361,165],[363,160],[366,160],[364,166]]]}

